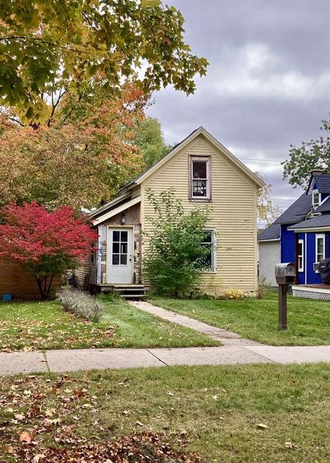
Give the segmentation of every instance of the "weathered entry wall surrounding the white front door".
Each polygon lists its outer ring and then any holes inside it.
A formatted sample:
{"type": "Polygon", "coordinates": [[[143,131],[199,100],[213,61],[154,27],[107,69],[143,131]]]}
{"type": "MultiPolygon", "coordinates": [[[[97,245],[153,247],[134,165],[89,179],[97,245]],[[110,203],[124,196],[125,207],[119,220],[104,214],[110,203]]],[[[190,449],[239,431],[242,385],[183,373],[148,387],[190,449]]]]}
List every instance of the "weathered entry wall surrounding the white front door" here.
{"type": "MultiPolygon", "coordinates": [[[[102,225],[124,227],[133,226],[133,283],[141,283],[141,224],[140,224],[140,204],[135,204],[131,208],[126,209],[126,223],[121,224],[122,213],[114,215],[111,219],[103,222],[102,225]]],[[[101,281],[106,283],[106,262],[107,262],[107,243],[102,245],[102,261],[101,261],[101,281]]]]}

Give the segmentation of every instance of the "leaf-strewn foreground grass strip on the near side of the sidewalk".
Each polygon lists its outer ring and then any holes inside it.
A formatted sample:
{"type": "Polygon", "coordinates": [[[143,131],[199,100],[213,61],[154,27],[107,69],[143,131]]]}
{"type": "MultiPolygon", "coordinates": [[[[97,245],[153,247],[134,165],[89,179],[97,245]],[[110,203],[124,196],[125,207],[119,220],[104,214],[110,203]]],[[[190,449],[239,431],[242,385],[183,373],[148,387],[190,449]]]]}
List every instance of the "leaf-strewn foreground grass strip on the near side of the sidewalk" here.
{"type": "MultiPolygon", "coordinates": [[[[69,459],[70,452],[87,457],[87,448],[145,431],[159,434],[164,451],[180,446],[186,455],[199,453],[203,463],[330,461],[326,364],[18,376],[1,380],[0,405],[1,462],[96,461],[69,459]],[[36,444],[20,443],[23,431],[36,444]],[[69,455],[55,459],[65,448],[69,455]]],[[[151,455],[149,446],[140,446],[151,455]]],[[[113,461],[195,463],[161,456],[113,461]]]]}

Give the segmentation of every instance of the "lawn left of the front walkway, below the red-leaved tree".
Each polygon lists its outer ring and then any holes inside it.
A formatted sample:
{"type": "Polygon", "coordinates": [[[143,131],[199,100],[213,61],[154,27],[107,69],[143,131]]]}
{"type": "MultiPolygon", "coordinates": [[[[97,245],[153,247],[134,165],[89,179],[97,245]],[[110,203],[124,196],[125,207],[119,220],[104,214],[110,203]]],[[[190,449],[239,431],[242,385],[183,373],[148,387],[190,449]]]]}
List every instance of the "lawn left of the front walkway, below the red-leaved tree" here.
{"type": "Polygon", "coordinates": [[[56,301],[0,303],[0,350],[219,345],[208,336],[157,319],[122,299],[104,298],[99,323],[64,312],[56,301]]]}

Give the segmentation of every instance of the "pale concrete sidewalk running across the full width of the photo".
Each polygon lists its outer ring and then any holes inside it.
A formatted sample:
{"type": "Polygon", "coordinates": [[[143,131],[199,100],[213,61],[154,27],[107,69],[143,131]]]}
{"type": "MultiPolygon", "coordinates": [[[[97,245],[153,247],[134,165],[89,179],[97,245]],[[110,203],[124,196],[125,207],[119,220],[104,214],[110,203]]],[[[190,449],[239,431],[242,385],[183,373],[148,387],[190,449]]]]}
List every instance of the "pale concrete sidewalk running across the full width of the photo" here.
{"type": "Polygon", "coordinates": [[[164,367],[165,365],[237,365],[244,363],[330,363],[330,346],[274,347],[232,345],[175,349],[63,349],[0,353],[0,376],[35,372],[164,367]]]}

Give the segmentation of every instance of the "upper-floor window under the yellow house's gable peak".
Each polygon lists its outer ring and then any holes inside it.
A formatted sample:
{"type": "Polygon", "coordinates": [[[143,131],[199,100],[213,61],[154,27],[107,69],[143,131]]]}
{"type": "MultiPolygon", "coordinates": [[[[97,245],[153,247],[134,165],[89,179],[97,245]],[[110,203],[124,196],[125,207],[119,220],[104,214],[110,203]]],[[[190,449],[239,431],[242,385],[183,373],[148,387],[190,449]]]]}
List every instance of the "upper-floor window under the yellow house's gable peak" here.
{"type": "Polygon", "coordinates": [[[210,158],[190,158],[190,197],[194,200],[210,200],[210,158]]]}

